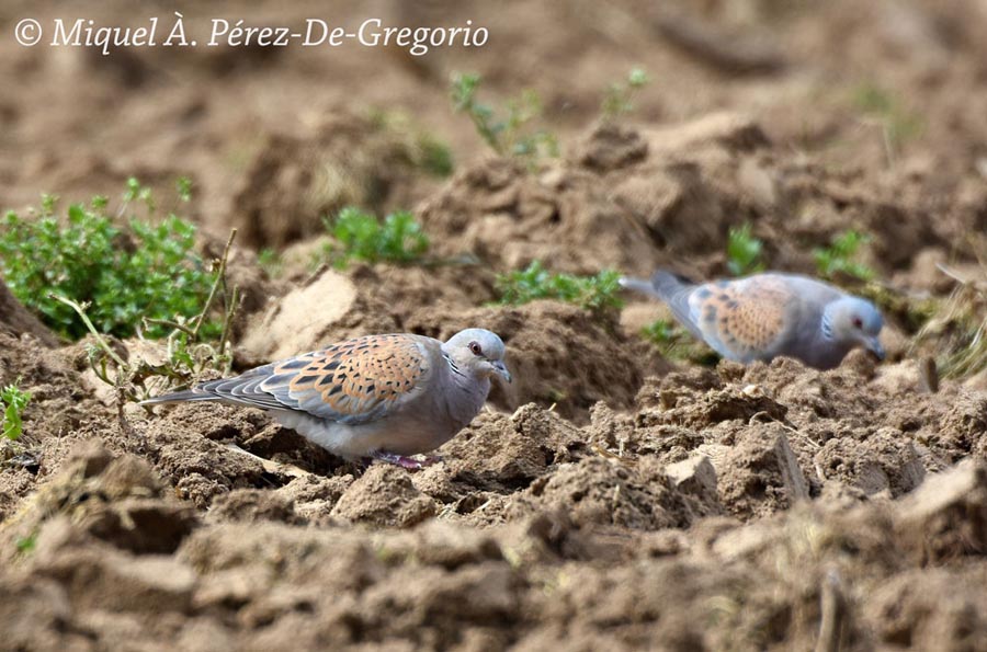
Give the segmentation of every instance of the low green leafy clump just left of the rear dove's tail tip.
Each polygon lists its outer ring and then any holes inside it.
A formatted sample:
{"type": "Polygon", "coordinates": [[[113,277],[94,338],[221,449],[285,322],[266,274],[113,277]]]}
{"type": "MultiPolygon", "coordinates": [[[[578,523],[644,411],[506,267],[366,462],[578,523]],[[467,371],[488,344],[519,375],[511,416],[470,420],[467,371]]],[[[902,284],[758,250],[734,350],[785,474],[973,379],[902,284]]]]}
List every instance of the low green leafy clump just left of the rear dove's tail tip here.
{"type": "Polygon", "coordinates": [[[533,261],[524,270],[498,275],[496,288],[501,304],[520,306],[536,299],[556,299],[599,314],[623,307],[620,277],[613,270],[593,276],[553,274],[533,261]]]}

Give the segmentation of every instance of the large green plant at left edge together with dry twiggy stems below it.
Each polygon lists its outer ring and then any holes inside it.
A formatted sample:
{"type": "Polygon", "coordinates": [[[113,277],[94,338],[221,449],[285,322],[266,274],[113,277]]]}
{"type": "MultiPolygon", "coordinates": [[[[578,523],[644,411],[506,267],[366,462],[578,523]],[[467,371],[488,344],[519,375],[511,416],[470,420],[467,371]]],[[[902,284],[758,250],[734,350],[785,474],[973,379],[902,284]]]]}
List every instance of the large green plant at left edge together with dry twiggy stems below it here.
{"type": "MultiPolygon", "coordinates": [[[[177,191],[188,202],[192,182],[180,179],[177,191]]],[[[117,224],[135,204],[154,214],[155,197],[136,179],[127,181],[115,218],[106,214],[105,197],[69,206],[64,220],[55,215],[57,203],[44,196],[32,220],[7,215],[0,268],[11,290],[49,325],[73,339],[93,338],[90,365],[115,387],[121,410],[125,400],[148,398],[148,381],[161,390],[188,385],[207,368],[229,371],[239,291],[227,287],[226,263],[236,230],[223,256],[206,264],[194,251],[195,227],[173,214],[157,224],[134,215],[117,224]],[[167,355],[156,364],[125,361],[106,334],[164,339],[167,355]]]]}

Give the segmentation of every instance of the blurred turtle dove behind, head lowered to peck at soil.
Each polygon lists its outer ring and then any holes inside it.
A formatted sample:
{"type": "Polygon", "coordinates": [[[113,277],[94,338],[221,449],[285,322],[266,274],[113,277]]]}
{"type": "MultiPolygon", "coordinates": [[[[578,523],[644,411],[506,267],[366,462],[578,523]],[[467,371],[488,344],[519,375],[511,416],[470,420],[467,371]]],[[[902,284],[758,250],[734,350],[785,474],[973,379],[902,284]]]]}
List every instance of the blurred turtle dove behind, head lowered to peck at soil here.
{"type": "Polygon", "coordinates": [[[621,285],[661,299],[693,335],[739,363],[783,355],[831,369],[858,346],[884,359],[877,308],[807,276],[764,273],[696,284],[659,270],[650,282],[624,277],[621,285]]]}

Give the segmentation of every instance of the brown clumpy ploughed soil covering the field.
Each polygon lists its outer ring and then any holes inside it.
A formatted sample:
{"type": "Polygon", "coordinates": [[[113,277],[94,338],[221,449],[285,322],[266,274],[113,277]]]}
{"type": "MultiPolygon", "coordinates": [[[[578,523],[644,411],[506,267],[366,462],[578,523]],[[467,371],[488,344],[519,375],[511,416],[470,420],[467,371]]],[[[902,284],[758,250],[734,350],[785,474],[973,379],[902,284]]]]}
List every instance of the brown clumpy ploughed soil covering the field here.
{"type": "MultiPolygon", "coordinates": [[[[222,4],[257,24],[326,11],[222,4]]],[[[115,195],[131,174],[163,198],[191,174],[180,209],[206,253],[240,229],[238,368],[479,325],[515,377],[443,461],[363,468],[260,411],[118,412],[87,343],[59,343],[0,285],[0,386],[33,394],[24,436],[0,446],[0,647],[987,649],[987,392],[924,391],[921,357],[949,333],[912,347],[906,309],[954,289],[937,263],[983,275],[987,14],[824,4],[379,3],[392,21],[490,27],[485,48],[420,59],[0,41],[0,207],[115,195]],[[600,122],[602,89],[636,64],[653,83],[600,122]],[[537,89],[563,156],[531,169],[484,152],[451,114],[453,70],[481,72],[487,98],[537,89]],[[883,114],[861,104],[875,89],[883,114]],[[450,179],[421,164],[423,133],[452,145],[450,179]],[[413,208],[428,264],[313,270],[321,216],[351,203],[413,208]],[[495,304],[496,275],[533,260],[725,274],[744,221],[773,266],[809,274],[814,247],[869,232],[889,359],[711,368],[640,340],[667,314],[653,302],[495,304]],[[257,263],[268,247],[285,249],[276,278],[257,263]]],[[[15,2],[0,30],[63,13],[15,2]]]]}

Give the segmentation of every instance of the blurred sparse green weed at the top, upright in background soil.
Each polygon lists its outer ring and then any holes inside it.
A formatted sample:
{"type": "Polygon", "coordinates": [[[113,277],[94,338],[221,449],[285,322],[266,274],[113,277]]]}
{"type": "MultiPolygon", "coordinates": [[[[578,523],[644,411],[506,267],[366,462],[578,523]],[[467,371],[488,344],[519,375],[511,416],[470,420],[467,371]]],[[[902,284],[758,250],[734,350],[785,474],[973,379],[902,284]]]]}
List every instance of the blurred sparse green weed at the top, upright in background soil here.
{"type": "Polygon", "coordinates": [[[456,113],[473,121],[477,134],[500,156],[512,156],[533,163],[558,156],[558,139],[532,123],[542,115],[542,101],[532,90],[508,100],[499,111],[477,98],[483,79],[479,75],[453,76],[451,95],[456,113]]]}

